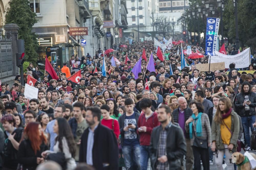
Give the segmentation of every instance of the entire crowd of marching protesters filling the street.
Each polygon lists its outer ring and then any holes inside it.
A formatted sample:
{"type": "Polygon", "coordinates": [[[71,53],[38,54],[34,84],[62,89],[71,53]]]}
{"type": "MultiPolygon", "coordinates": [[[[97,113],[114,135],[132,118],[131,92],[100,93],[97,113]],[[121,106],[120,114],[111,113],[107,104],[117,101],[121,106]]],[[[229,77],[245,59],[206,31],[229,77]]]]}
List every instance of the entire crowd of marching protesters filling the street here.
{"type": "MultiPolygon", "coordinates": [[[[253,149],[255,66],[240,71],[230,63],[226,70],[200,72],[197,64],[208,63],[207,56],[190,60],[185,55],[187,67],[181,69],[178,45],[164,51],[164,61],[153,41],[126,45],[105,56],[99,49],[93,57],[72,56],[57,68],[52,64],[58,80],[31,63],[24,80],[37,80],[38,99],[25,97],[20,75],[11,87],[2,82],[1,168],[200,170],[202,165],[209,170],[215,158],[218,169],[236,169],[231,154],[253,149]],[[134,76],[143,49],[147,61],[142,59],[134,76]],[[151,53],[155,71],[150,72],[151,53]],[[119,62],[111,62],[112,56],[119,62]],[[67,80],[79,70],[78,84],[67,80]]],[[[204,54],[192,46],[196,49],[204,54]]]]}

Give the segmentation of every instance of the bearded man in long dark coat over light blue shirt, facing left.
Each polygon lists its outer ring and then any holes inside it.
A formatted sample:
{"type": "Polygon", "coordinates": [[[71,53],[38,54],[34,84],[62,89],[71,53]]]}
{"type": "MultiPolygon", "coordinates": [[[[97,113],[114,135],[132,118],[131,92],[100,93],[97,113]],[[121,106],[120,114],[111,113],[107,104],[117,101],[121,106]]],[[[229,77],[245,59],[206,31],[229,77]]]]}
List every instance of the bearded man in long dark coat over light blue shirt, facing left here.
{"type": "MultiPolygon", "coordinates": [[[[80,105],[83,106],[82,103],[80,105]]],[[[100,109],[87,107],[85,117],[89,127],[84,130],[81,137],[79,162],[86,162],[95,169],[118,169],[117,140],[111,129],[101,125],[100,109]]]]}

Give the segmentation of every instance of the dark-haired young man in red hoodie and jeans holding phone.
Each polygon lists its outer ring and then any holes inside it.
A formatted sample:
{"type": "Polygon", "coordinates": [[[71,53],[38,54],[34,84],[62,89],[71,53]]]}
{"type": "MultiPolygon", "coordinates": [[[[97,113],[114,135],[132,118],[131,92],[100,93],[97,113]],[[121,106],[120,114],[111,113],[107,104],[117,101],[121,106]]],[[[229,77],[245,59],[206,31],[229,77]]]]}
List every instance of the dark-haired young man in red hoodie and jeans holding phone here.
{"type": "Polygon", "coordinates": [[[157,119],[157,113],[151,110],[152,100],[149,98],[143,98],[140,102],[140,108],[143,113],[138,119],[138,133],[140,135],[140,166],[141,170],[147,169],[147,163],[149,158],[149,145],[151,133],[154,127],[160,125],[157,119]]]}

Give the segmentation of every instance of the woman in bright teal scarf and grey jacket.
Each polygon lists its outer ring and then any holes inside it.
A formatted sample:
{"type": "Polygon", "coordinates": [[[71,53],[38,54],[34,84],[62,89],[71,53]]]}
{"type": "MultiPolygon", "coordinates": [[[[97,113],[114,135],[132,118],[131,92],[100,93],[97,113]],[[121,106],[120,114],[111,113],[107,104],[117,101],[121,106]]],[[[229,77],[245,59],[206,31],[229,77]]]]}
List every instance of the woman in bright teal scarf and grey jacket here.
{"type": "Polygon", "coordinates": [[[203,113],[204,108],[200,102],[190,103],[190,108],[192,109],[193,114],[186,121],[185,130],[186,132],[189,132],[190,136],[190,143],[195,159],[194,169],[201,170],[200,160],[202,160],[204,170],[209,170],[210,163],[208,148],[194,146],[195,135],[198,139],[207,140],[208,147],[211,146],[211,126],[209,117],[207,114],[203,113]]]}

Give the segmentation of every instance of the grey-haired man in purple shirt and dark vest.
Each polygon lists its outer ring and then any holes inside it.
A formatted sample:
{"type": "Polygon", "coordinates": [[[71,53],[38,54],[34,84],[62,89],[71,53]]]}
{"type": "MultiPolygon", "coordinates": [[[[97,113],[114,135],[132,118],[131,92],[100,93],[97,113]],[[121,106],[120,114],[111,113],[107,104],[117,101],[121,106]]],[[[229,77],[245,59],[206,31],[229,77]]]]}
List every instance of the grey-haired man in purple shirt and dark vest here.
{"type": "Polygon", "coordinates": [[[186,153],[186,169],[192,170],[194,163],[193,150],[190,144],[189,134],[185,131],[185,122],[193,114],[192,110],[187,107],[187,100],[184,97],[178,98],[179,107],[173,111],[173,120],[178,123],[180,128],[182,128],[186,143],[187,143],[187,153],[186,153]]]}

